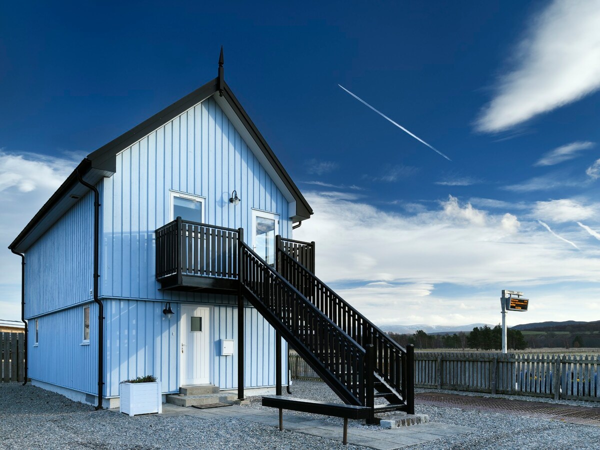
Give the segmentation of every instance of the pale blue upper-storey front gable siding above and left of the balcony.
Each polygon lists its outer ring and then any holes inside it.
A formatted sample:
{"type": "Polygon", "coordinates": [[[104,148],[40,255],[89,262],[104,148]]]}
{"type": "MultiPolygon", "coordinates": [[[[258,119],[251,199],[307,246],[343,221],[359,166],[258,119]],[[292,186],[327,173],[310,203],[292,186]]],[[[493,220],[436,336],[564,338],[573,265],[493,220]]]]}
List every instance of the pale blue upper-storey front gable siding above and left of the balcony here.
{"type": "Polygon", "coordinates": [[[251,239],[252,209],[280,216],[286,236],[289,202],[213,98],[167,122],[117,155],[104,182],[101,295],[185,300],[155,281],[154,230],[170,221],[170,190],[205,197],[205,222],[243,227],[251,239]],[[230,193],[242,201],[229,203],[230,193]]]}

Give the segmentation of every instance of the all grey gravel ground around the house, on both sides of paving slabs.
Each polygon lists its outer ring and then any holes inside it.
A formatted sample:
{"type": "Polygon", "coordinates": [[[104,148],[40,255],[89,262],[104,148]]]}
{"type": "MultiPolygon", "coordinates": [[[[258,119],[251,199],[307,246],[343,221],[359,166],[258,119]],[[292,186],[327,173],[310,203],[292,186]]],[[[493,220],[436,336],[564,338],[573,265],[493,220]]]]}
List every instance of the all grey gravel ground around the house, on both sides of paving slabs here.
{"type": "MultiPolygon", "coordinates": [[[[430,391],[419,389],[418,391],[430,391]]],[[[443,391],[453,394],[479,395],[443,391]]],[[[313,400],[338,401],[322,382],[296,381],[292,395],[313,400]]],[[[487,395],[485,395],[487,397],[487,395]]],[[[544,401],[515,395],[500,398],[544,401]]],[[[550,403],[553,401],[550,400],[550,403]]],[[[600,407],[591,402],[564,401],[577,406],[600,407]]],[[[260,398],[251,398],[248,408],[262,409],[260,398]]],[[[411,449],[598,449],[600,427],[565,424],[559,421],[479,413],[471,410],[416,405],[416,412],[428,414],[430,421],[465,425],[475,431],[411,446],[411,449]]],[[[288,412],[307,415],[305,413],[288,412]]],[[[325,416],[319,416],[325,418],[325,416]]],[[[327,418],[341,425],[341,419],[327,418]]],[[[350,427],[366,427],[350,421],[350,427]]],[[[368,428],[376,429],[371,425],[368,428]]],[[[0,449],[347,449],[341,442],[320,439],[276,427],[236,419],[203,419],[190,416],[158,418],[156,415],[125,415],[75,403],[31,385],[0,383],[0,449]]]]}

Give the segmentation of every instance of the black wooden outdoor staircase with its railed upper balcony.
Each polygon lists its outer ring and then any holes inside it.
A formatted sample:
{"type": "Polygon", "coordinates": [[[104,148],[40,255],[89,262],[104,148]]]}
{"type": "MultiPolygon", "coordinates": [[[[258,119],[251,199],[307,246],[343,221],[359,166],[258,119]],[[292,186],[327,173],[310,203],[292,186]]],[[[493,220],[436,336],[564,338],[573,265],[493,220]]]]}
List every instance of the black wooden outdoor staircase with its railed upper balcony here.
{"type": "Polygon", "coordinates": [[[273,268],[243,233],[179,217],[156,230],[161,289],[238,292],[344,403],[369,407],[368,422],[377,412],[413,414],[413,347],[399,346],[314,275],[314,242],[277,236],[273,268]]]}

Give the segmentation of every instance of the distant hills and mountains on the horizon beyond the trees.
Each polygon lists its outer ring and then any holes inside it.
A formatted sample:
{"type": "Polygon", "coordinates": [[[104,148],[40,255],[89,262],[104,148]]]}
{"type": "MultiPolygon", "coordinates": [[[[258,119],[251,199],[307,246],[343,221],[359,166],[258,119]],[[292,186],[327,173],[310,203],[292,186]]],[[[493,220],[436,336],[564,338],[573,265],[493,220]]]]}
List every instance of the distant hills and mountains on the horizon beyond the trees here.
{"type": "MultiPolygon", "coordinates": [[[[393,332],[397,334],[415,334],[419,329],[422,329],[427,334],[453,334],[460,331],[473,331],[473,328],[488,325],[494,328],[495,325],[489,323],[470,323],[469,325],[457,325],[457,326],[446,326],[446,325],[425,325],[419,323],[416,325],[381,325],[383,331],[393,332]]],[[[535,322],[535,323],[524,323],[523,325],[515,325],[509,328],[520,330],[520,331],[600,331],[600,320],[595,322],[579,322],[577,320],[565,320],[564,322],[535,322]]]]}

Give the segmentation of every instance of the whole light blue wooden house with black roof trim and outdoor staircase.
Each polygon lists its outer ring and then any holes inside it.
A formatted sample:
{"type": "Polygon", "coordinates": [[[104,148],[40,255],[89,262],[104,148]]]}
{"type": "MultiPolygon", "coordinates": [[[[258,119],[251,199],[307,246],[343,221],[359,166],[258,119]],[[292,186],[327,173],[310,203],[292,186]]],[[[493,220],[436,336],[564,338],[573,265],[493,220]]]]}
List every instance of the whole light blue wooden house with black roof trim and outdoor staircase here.
{"type": "Polygon", "coordinates": [[[29,378],[99,407],[146,374],[165,395],[244,398],[281,391],[289,344],[345,403],[410,410],[410,352],[314,276],[314,243],[292,239],[313,211],[224,81],[222,52],[219,66],[89,154],[10,245],[29,378]]]}

